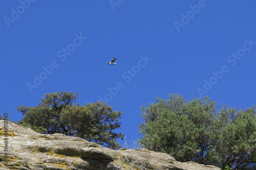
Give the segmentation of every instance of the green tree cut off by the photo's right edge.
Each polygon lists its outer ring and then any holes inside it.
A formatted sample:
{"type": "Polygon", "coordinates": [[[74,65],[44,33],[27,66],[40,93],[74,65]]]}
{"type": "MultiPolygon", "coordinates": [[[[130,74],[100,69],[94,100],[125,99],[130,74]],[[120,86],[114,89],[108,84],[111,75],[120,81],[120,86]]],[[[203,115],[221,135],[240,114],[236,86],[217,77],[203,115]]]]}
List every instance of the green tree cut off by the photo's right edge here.
{"type": "Polygon", "coordinates": [[[219,166],[256,169],[255,107],[237,110],[223,106],[216,119],[219,166]]]}

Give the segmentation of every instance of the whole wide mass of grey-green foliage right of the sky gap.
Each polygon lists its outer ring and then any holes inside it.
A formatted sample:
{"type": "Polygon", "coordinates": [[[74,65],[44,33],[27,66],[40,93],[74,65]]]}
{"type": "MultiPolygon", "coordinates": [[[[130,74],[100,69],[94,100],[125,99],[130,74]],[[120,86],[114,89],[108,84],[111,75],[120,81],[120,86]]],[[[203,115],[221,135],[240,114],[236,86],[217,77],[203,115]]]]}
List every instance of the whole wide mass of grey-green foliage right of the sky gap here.
{"type": "Polygon", "coordinates": [[[207,96],[185,102],[181,95],[156,98],[142,106],[142,147],[174,156],[231,169],[247,169],[256,160],[255,107],[236,110],[217,104],[207,96]]]}

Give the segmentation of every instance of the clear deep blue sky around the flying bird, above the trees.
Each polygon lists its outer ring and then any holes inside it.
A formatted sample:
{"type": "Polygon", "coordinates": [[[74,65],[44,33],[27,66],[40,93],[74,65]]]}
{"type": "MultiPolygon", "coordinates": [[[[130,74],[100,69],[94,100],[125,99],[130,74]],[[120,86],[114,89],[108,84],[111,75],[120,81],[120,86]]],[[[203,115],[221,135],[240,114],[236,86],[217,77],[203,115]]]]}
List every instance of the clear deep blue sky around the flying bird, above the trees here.
{"type": "Polygon", "coordinates": [[[255,7],[252,0],[2,1],[1,114],[16,122],[18,105],[76,92],[82,105],[103,99],[121,110],[118,132],[130,141],[140,138],[140,106],[156,96],[256,105],[255,7]],[[112,57],[118,65],[106,64],[112,57]]]}

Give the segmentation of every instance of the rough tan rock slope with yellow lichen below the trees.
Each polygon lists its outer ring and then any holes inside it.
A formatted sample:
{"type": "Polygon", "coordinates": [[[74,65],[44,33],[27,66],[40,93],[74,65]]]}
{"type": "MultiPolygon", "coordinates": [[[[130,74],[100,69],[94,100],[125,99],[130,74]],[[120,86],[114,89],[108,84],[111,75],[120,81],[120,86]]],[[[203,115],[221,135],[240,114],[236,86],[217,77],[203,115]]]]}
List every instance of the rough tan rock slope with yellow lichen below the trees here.
{"type": "Polygon", "coordinates": [[[63,134],[43,135],[30,128],[0,120],[0,169],[195,169],[214,170],[215,166],[178,162],[168,154],[146,149],[103,148],[79,137],[63,134]],[[7,142],[6,142],[7,141],[7,142]],[[5,142],[5,143],[4,143],[5,142]],[[5,149],[6,148],[6,149],[5,149]],[[8,150],[8,151],[6,151],[8,150]],[[6,163],[5,154],[8,154],[6,163]]]}

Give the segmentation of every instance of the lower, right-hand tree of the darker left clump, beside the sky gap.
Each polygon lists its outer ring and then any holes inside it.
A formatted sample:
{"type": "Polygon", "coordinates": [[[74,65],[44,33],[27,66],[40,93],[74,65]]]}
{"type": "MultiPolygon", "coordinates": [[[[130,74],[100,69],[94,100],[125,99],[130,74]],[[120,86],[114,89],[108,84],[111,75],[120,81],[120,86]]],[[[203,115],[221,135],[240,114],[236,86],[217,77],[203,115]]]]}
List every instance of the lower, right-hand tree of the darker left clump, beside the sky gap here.
{"type": "Polygon", "coordinates": [[[116,138],[122,138],[123,134],[114,133],[113,130],[120,128],[118,119],[121,111],[112,111],[112,107],[106,103],[88,103],[86,106],[68,106],[63,110],[63,122],[70,122],[74,136],[99,143],[112,149],[120,148],[116,138]]]}

